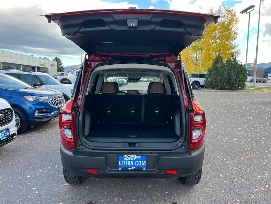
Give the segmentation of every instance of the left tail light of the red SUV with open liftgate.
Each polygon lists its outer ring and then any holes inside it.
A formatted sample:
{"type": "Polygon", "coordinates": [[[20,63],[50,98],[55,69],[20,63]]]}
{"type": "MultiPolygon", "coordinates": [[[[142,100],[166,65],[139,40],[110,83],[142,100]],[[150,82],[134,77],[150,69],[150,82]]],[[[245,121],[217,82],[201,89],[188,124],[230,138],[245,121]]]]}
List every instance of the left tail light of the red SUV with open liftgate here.
{"type": "Polygon", "coordinates": [[[71,112],[73,101],[68,101],[62,108],[59,116],[60,143],[62,146],[75,149],[75,118],[71,112]]]}

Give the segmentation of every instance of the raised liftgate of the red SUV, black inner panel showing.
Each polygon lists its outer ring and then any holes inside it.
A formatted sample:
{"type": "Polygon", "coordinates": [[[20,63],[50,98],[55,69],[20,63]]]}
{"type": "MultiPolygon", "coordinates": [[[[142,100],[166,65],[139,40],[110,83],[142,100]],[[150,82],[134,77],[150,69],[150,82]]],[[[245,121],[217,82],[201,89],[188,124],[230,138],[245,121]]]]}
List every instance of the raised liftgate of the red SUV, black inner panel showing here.
{"type": "Polygon", "coordinates": [[[106,9],[44,15],[86,53],[173,53],[178,55],[216,14],[151,9],[106,9]]]}

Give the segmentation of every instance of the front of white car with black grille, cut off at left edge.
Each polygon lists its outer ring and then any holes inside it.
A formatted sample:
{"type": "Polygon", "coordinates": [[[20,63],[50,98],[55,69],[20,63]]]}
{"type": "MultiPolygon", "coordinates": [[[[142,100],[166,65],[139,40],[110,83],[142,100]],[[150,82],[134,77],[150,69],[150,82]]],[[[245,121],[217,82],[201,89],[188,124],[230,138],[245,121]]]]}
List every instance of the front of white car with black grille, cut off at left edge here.
{"type": "Polygon", "coordinates": [[[0,98],[0,147],[13,141],[17,136],[16,118],[10,104],[0,98]]]}

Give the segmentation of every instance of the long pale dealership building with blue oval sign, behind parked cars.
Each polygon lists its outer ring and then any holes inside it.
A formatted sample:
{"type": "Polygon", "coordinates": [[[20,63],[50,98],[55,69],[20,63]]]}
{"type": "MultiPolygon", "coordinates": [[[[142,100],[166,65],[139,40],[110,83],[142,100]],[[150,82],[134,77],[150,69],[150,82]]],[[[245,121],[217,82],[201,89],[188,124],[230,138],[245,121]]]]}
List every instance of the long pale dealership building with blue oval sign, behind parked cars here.
{"type": "Polygon", "coordinates": [[[0,69],[28,70],[57,74],[57,62],[15,52],[0,50],[0,69]]]}

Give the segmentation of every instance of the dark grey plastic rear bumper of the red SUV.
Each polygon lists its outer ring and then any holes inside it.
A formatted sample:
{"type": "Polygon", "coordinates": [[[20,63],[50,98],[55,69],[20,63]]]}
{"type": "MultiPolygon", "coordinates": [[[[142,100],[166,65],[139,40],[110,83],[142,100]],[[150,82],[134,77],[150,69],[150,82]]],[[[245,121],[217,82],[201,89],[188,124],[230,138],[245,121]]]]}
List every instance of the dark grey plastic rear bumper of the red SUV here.
{"type": "Polygon", "coordinates": [[[62,166],[71,173],[84,177],[117,177],[117,178],[153,178],[184,177],[197,172],[203,164],[203,146],[188,152],[114,152],[78,151],[66,149],[60,145],[62,166]],[[118,170],[117,156],[123,154],[147,155],[146,170],[118,170]],[[87,173],[87,169],[98,170],[98,173],[87,173]],[[176,174],[166,174],[166,170],[177,170],[176,174]]]}

